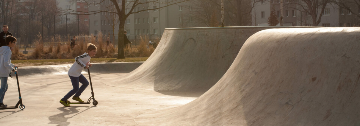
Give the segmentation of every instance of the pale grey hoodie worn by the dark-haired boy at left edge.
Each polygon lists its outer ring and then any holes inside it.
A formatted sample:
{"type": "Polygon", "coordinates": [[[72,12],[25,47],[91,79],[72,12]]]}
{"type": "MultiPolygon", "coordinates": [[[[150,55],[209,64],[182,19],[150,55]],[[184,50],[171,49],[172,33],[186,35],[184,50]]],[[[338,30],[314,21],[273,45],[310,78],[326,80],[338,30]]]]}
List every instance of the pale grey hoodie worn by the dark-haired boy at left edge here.
{"type": "Polygon", "coordinates": [[[0,77],[9,77],[9,73],[14,69],[14,64],[10,62],[11,50],[9,46],[0,47],[0,77]]]}

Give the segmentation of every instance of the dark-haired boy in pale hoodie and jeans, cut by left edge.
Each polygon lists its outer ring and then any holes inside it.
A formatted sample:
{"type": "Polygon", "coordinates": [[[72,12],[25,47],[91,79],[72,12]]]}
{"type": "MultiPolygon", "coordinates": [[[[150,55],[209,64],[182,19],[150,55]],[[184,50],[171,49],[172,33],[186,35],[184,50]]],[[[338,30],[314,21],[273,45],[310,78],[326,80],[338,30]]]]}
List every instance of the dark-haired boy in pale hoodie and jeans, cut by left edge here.
{"type": "Polygon", "coordinates": [[[16,38],[13,36],[8,36],[5,39],[6,46],[1,46],[0,48],[0,108],[7,107],[8,105],[4,104],[5,92],[8,90],[8,77],[11,71],[17,72],[14,67],[18,67],[11,63],[11,50],[10,48],[15,47],[16,38]]]}

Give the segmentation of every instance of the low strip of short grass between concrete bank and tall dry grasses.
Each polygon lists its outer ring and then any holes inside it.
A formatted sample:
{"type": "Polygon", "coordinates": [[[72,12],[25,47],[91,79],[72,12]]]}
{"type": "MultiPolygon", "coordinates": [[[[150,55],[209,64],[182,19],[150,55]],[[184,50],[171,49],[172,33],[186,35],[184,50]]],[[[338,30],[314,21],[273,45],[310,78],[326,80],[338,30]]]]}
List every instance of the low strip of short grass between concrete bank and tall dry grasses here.
{"type": "MultiPolygon", "coordinates": [[[[91,58],[90,63],[112,63],[112,62],[145,62],[148,57],[143,58],[91,58]]],[[[13,64],[19,67],[43,66],[74,63],[75,59],[31,59],[31,60],[12,60],[13,64]]]]}

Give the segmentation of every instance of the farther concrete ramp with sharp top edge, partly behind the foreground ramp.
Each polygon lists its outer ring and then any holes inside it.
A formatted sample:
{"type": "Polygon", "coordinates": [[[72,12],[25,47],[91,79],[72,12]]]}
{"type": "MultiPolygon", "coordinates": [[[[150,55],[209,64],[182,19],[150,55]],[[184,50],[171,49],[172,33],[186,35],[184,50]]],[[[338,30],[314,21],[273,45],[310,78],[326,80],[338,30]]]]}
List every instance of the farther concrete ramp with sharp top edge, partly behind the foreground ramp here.
{"type": "Polygon", "coordinates": [[[228,70],[244,42],[270,28],[214,27],[166,29],[154,53],[111,86],[155,91],[207,91],[228,70]]]}

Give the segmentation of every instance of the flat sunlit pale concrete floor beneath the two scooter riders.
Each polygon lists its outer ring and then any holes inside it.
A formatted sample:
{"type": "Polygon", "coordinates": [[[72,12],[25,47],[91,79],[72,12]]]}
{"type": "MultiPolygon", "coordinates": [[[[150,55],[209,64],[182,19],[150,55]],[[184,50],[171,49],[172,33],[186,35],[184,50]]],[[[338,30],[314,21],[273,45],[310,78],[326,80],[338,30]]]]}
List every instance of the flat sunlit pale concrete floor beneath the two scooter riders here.
{"type": "MultiPolygon", "coordinates": [[[[126,73],[125,73],[126,74],[126,73]]],[[[92,74],[95,99],[93,104],[72,104],[64,107],[59,100],[72,89],[67,75],[19,77],[23,104],[26,108],[0,110],[2,126],[139,126],[134,118],[142,113],[165,107],[177,107],[191,102],[203,92],[156,92],[108,86],[104,80],[116,79],[122,74],[92,74]]],[[[85,75],[88,78],[87,75],[85,75]]],[[[10,79],[10,78],[9,78],[10,79]]],[[[12,80],[14,82],[14,80],[12,80]]],[[[80,98],[91,96],[90,85],[80,98]]],[[[4,103],[14,106],[18,91],[9,85],[4,103]]],[[[70,98],[70,101],[73,101],[70,98]]]]}

